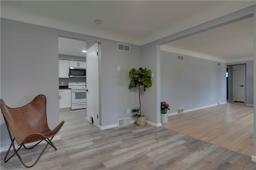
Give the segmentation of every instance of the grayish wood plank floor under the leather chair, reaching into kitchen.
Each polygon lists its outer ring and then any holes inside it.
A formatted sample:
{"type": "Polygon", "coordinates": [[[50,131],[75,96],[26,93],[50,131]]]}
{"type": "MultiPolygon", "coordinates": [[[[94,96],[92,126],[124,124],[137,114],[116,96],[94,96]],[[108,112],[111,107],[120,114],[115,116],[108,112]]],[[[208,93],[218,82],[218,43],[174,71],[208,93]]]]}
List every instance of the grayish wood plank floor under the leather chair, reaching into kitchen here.
{"type": "MultiPolygon", "coordinates": [[[[62,114],[66,120],[62,137],[53,141],[58,150],[48,147],[29,170],[255,170],[249,156],[164,127],[131,124],[100,131],[85,121],[71,123],[74,120],[68,117],[72,113],[85,120],[79,111],[62,114]]],[[[20,156],[31,164],[43,147],[32,152],[22,149],[20,156]]],[[[4,163],[4,155],[1,152],[1,170],[26,169],[16,155],[4,163]]]]}

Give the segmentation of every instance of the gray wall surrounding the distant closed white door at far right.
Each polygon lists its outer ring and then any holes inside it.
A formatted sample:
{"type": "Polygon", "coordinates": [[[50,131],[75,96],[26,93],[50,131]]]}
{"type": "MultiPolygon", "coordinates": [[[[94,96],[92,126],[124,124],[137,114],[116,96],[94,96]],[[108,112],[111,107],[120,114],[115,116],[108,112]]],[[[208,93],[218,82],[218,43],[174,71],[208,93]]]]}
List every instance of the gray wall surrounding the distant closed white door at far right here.
{"type": "Polygon", "coordinates": [[[233,66],[234,65],[245,65],[245,102],[246,104],[253,105],[253,61],[243,61],[243,62],[236,62],[236,63],[227,63],[227,66],[229,66],[229,93],[230,97],[229,100],[233,100],[233,66]]]}

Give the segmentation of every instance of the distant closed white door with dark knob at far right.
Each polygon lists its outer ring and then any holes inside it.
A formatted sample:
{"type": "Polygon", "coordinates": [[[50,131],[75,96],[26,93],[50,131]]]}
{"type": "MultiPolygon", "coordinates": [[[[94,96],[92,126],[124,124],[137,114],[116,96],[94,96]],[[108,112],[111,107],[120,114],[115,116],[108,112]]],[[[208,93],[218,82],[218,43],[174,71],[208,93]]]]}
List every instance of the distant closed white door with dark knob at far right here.
{"type": "Polygon", "coordinates": [[[244,65],[233,66],[233,100],[244,102],[244,65]]]}

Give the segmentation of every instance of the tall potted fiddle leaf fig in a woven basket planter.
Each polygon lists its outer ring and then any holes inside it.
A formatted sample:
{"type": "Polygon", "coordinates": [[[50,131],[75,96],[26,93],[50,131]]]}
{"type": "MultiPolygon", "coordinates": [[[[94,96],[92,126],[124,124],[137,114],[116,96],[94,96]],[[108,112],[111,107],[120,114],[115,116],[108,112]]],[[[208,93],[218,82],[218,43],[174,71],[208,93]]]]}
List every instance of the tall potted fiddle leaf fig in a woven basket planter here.
{"type": "MultiPolygon", "coordinates": [[[[147,70],[146,68],[132,68],[129,72],[130,76],[130,84],[129,89],[137,88],[139,91],[139,101],[140,101],[140,88],[143,86],[143,91],[146,91],[146,88],[152,86],[151,82],[151,70],[147,70]]],[[[146,115],[141,114],[141,102],[140,107],[135,107],[132,109],[132,112],[137,112],[134,116],[136,117],[136,123],[139,126],[146,125],[146,115]]]]}

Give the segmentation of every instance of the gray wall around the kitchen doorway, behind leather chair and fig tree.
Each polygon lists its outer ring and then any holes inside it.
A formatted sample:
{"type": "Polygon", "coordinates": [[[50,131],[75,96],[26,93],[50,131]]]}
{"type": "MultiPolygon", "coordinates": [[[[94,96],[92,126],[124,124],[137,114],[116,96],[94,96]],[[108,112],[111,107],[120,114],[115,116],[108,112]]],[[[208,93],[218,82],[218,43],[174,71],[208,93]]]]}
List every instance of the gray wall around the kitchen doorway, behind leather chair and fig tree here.
{"type": "MultiPolygon", "coordinates": [[[[141,47],[118,51],[117,41],[1,18],[1,98],[10,107],[30,102],[36,95],[47,98],[50,129],[59,123],[58,36],[100,43],[100,126],[132,117],[127,109],[136,106],[137,93],[128,90],[128,72],[141,66],[141,47]],[[121,70],[117,71],[117,66],[121,70]]],[[[119,42],[123,43],[123,42],[119,42]]],[[[134,119],[132,117],[132,119],[134,119]]],[[[1,115],[1,147],[10,139],[1,115]]]]}

